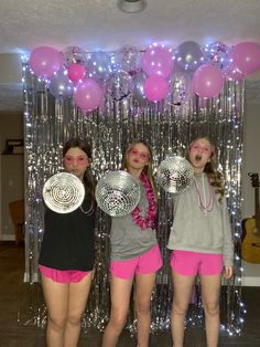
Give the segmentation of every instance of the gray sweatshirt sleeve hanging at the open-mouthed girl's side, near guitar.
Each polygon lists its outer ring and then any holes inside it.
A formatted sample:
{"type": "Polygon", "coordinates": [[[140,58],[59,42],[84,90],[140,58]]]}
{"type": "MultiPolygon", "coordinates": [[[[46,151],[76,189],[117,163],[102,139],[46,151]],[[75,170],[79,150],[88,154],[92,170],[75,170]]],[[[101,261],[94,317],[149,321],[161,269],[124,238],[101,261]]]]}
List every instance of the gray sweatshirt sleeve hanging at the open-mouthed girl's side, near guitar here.
{"type": "Polygon", "coordinates": [[[223,243],[223,257],[225,266],[232,266],[234,264],[234,241],[231,234],[231,225],[230,219],[227,209],[227,201],[224,197],[223,199],[223,234],[224,234],[224,243],[223,243]]]}

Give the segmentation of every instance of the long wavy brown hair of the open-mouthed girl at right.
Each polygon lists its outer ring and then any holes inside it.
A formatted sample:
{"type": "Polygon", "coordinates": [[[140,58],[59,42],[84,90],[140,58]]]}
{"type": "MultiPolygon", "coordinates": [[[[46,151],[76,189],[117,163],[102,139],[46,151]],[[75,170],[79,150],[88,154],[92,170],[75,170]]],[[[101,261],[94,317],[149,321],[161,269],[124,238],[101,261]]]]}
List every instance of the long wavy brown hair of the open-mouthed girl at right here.
{"type": "Polygon", "coordinates": [[[195,138],[188,146],[188,150],[186,154],[186,159],[189,161],[189,151],[194,143],[196,143],[198,139],[206,139],[212,147],[212,155],[210,160],[205,165],[204,172],[209,178],[209,182],[213,186],[216,193],[220,196],[219,201],[221,201],[221,198],[224,197],[225,189],[224,189],[224,178],[220,171],[217,170],[218,166],[218,153],[216,146],[213,144],[209,137],[207,136],[199,136],[195,138]]]}

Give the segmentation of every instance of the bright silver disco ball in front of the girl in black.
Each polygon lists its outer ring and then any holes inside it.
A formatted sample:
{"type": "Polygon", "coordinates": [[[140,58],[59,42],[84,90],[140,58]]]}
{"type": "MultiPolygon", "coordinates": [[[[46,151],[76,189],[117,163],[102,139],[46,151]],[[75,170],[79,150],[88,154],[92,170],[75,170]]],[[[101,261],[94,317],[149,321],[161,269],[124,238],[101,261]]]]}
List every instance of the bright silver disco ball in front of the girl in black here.
{"type": "Polygon", "coordinates": [[[57,213],[76,210],[84,200],[85,188],[79,178],[68,172],[58,172],[47,179],[43,186],[43,200],[57,213]]]}

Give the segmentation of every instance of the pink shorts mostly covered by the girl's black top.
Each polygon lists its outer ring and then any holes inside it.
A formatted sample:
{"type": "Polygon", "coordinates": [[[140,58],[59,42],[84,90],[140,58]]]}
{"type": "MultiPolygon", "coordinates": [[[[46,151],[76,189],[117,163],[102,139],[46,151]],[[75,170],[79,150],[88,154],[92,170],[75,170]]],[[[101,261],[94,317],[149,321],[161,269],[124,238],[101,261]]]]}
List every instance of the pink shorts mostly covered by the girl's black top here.
{"type": "Polygon", "coordinates": [[[52,278],[57,283],[77,283],[89,274],[89,271],[78,270],[56,270],[44,265],[39,265],[42,275],[52,278]]]}

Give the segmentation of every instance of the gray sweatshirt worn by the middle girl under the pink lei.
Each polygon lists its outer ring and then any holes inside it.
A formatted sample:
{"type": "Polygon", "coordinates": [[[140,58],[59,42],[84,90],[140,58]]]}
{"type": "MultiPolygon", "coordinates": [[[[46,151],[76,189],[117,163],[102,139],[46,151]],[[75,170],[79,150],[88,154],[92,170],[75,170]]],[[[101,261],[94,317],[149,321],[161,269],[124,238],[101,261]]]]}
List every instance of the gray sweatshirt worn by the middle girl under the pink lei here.
{"type": "MultiPolygon", "coordinates": [[[[141,185],[141,199],[139,207],[141,215],[147,214],[149,207],[145,190],[141,185]]],[[[128,260],[143,254],[156,244],[155,230],[141,230],[131,214],[113,217],[111,223],[111,260],[128,260]]]]}

